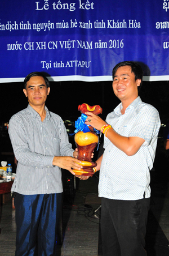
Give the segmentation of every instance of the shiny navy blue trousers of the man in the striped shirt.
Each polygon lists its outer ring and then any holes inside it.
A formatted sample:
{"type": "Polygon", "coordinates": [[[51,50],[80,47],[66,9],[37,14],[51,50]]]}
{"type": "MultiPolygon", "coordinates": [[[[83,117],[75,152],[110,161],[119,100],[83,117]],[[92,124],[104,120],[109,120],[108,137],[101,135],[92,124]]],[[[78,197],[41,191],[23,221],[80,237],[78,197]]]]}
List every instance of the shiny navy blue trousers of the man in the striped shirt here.
{"type": "Polygon", "coordinates": [[[15,256],[54,256],[61,194],[16,193],[15,256]]]}

